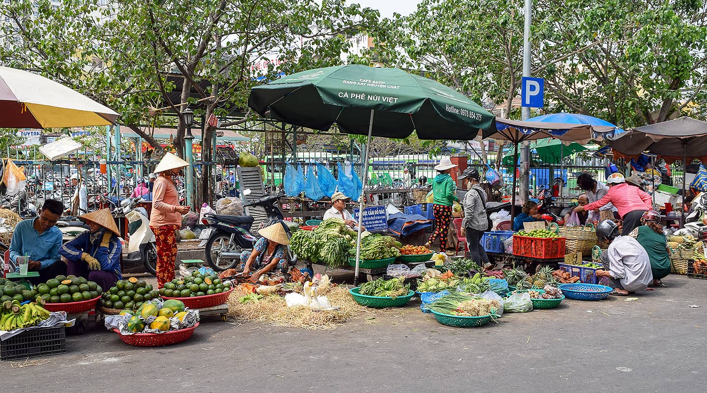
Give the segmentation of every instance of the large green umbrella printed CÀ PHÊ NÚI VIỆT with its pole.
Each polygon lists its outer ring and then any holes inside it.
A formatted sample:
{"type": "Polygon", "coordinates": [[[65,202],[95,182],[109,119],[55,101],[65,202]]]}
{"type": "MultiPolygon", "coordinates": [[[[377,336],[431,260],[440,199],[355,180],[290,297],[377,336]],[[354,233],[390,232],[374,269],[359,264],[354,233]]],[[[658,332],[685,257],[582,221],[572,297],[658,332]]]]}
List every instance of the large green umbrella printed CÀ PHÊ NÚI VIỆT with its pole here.
{"type": "MultiPolygon", "coordinates": [[[[364,163],[371,136],[404,138],[416,131],[420,139],[471,140],[480,130],[495,129],[491,113],[452,88],[401,69],[358,64],[298,72],[257,86],[248,106],[302,127],[326,131],[337,124],[348,134],[368,135],[364,163]]],[[[361,213],[365,192],[363,187],[361,213]]],[[[358,281],[360,225],[356,248],[358,281]]]]}

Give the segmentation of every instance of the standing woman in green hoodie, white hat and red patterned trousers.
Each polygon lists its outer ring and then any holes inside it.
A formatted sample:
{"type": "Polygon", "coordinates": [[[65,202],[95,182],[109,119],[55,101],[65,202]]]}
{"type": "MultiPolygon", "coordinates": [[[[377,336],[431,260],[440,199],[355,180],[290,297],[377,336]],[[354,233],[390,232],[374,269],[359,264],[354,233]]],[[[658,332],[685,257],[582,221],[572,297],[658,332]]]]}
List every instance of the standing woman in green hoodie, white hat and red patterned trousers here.
{"type": "Polygon", "coordinates": [[[458,201],[457,184],[449,175],[452,168],[457,165],[452,164],[449,157],[443,157],[435,167],[438,175],[432,181],[432,192],[434,195],[433,211],[435,213],[435,230],[427,240],[427,247],[431,247],[435,240],[440,240],[440,252],[447,249],[447,236],[449,233],[449,223],[452,218],[452,204],[458,201]]]}

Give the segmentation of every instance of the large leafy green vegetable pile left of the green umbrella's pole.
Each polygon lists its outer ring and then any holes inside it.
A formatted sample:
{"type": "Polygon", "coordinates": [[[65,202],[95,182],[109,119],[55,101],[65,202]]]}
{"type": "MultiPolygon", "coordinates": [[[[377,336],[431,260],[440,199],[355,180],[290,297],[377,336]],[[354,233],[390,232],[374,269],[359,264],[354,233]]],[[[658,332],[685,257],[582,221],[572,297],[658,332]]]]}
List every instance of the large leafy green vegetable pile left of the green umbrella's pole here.
{"type": "Polygon", "coordinates": [[[327,218],[315,230],[293,233],[290,247],[300,259],[336,267],[346,263],[351,240],[355,245],[356,235],[341,218],[327,218]]]}

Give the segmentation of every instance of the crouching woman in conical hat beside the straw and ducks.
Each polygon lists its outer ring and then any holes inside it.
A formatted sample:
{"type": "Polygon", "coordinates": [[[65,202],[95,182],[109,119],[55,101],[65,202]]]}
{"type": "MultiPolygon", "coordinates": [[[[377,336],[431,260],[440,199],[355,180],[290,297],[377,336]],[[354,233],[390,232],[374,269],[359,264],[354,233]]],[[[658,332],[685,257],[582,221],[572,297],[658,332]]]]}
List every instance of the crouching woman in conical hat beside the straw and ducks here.
{"type": "Polygon", "coordinates": [[[286,245],[290,244],[283,223],[274,223],[266,228],[258,230],[262,236],[253,251],[244,251],[240,254],[240,267],[243,269],[243,276],[251,276],[257,280],[260,276],[271,271],[281,271],[287,273],[290,266],[287,260],[286,245]],[[252,273],[255,271],[255,273],[252,273]]]}

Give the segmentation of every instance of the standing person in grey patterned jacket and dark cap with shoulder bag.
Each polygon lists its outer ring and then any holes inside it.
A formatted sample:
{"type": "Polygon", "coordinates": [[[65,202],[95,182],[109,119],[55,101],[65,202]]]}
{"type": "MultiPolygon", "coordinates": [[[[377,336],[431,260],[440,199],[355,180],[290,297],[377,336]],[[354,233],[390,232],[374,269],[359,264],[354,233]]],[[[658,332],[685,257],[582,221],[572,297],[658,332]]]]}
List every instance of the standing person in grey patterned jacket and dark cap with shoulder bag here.
{"type": "Polygon", "coordinates": [[[486,192],[479,184],[479,171],[474,168],[464,170],[459,180],[468,180],[469,191],[464,195],[462,206],[464,206],[464,219],[462,228],[467,237],[469,253],[472,259],[479,266],[486,266],[489,263],[489,256],[486,255],[484,247],[479,245],[481,236],[489,230],[489,218],[486,216],[486,192]]]}

